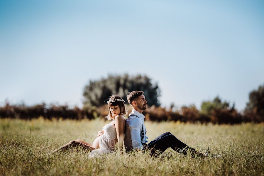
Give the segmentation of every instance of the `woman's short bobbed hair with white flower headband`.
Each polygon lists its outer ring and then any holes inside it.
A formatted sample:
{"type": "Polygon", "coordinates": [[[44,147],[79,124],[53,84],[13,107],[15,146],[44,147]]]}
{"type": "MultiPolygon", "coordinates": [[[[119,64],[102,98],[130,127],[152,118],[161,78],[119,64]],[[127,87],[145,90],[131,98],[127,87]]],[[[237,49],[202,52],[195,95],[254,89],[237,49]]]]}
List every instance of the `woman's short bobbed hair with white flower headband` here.
{"type": "Polygon", "coordinates": [[[110,95],[110,98],[109,98],[109,101],[108,101],[108,111],[109,111],[109,113],[105,117],[107,120],[114,119],[114,117],[112,116],[112,113],[110,111],[110,107],[111,106],[119,106],[120,114],[118,114],[118,115],[125,116],[127,114],[127,110],[126,110],[125,104],[124,104],[123,101],[120,101],[120,99],[122,100],[122,98],[119,95],[116,95],[116,94],[110,95]],[[119,101],[117,99],[119,99],[119,101]]]}

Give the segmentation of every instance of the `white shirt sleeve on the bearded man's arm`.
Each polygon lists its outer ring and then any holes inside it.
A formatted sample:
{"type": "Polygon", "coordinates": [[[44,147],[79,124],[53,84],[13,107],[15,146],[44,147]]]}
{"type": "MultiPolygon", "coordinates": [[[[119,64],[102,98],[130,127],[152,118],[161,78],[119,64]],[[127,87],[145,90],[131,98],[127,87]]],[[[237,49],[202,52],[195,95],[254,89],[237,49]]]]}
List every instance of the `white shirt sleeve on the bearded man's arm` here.
{"type": "Polygon", "coordinates": [[[128,122],[132,146],[134,150],[143,149],[143,145],[141,144],[141,136],[140,131],[142,129],[142,122],[138,117],[129,117],[126,119],[128,122]]]}

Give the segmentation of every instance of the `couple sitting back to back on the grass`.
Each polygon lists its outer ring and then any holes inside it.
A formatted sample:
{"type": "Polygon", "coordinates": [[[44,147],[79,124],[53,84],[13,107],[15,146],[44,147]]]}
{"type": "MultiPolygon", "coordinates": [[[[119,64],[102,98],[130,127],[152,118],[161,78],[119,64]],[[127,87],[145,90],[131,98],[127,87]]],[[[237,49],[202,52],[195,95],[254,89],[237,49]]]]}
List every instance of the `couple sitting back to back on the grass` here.
{"type": "Polygon", "coordinates": [[[146,128],[144,125],[145,116],[142,114],[143,110],[147,109],[147,100],[145,99],[143,91],[133,91],[127,96],[128,103],[132,106],[132,112],[129,117],[125,119],[127,110],[125,108],[124,100],[119,95],[112,95],[107,101],[109,114],[106,116],[108,120],[112,120],[109,124],[103,127],[103,131],[98,132],[98,137],[94,142],[88,143],[77,139],[61,146],[58,150],[79,146],[90,151],[89,157],[99,156],[103,153],[112,153],[117,149],[123,149],[125,145],[126,152],[133,150],[149,150],[151,155],[163,153],[167,148],[172,148],[178,153],[184,155],[189,150],[192,156],[205,157],[207,153],[202,154],[195,151],[179,139],[177,139],[170,132],[166,132],[156,137],[153,141],[147,144],[148,137],[146,136],[146,128]]]}

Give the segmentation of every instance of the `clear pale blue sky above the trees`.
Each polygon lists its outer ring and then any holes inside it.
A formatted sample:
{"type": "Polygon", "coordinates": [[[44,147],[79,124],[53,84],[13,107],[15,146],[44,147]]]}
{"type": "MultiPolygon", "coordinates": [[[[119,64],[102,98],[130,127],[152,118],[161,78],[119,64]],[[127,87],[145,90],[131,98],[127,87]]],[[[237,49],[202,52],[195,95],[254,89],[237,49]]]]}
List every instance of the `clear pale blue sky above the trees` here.
{"type": "Polygon", "coordinates": [[[157,82],[162,106],[242,111],[263,68],[261,0],[0,0],[0,106],[82,107],[89,80],[128,73],[157,82]]]}

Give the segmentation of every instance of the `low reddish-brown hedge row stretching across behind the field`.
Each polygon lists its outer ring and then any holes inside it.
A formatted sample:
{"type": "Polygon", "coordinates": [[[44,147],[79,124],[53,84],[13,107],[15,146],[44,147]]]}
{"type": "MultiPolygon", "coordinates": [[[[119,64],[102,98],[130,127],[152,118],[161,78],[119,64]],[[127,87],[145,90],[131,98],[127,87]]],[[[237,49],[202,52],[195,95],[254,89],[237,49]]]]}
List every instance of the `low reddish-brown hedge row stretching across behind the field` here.
{"type": "MultiPolygon", "coordinates": [[[[132,111],[131,106],[126,106],[128,113],[132,111]]],[[[6,103],[0,107],[0,118],[19,118],[33,119],[43,116],[45,119],[63,118],[63,119],[94,119],[103,118],[108,114],[107,106],[98,108],[89,107],[79,109],[75,107],[70,109],[64,106],[47,106],[38,104],[35,106],[19,106],[6,103]]],[[[236,109],[213,109],[210,114],[202,114],[195,107],[182,107],[180,111],[173,111],[162,107],[151,106],[143,111],[145,120],[150,121],[182,121],[182,122],[201,122],[201,123],[218,123],[218,124],[238,124],[242,122],[264,122],[264,118],[256,115],[254,111],[240,114],[236,109]]]]}

